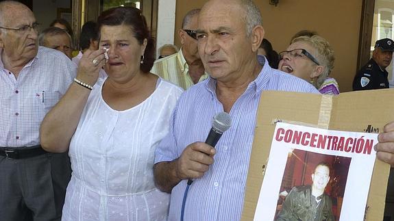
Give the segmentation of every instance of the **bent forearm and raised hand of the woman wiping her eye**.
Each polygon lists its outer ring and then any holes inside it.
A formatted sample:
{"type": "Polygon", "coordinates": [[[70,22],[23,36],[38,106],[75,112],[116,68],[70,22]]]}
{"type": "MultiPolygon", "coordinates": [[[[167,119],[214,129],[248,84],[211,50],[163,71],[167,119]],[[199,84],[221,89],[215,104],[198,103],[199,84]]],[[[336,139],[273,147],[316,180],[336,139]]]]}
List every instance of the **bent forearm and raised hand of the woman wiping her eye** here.
{"type": "MultiPolygon", "coordinates": [[[[82,56],[77,80],[94,86],[99,78],[99,71],[106,64],[106,49],[87,50],[82,56]],[[96,61],[96,62],[94,62],[96,61]]],[[[78,83],[72,83],[62,99],[51,109],[42,120],[40,142],[42,148],[53,153],[63,153],[69,149],[71,138],[77,129],[91,89],[78,83]]]]}

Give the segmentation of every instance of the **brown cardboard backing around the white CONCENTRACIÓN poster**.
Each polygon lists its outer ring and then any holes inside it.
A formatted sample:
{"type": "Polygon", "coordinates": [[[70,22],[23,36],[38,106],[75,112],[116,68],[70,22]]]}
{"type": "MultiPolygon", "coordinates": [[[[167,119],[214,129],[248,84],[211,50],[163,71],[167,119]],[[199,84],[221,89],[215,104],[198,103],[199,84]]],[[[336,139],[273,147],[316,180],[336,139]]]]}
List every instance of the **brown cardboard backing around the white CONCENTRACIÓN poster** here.
{"type": "MultiPolygon", "coordinates": [[[[384,125],[394,120],[393,97],[394,90],[391,89],[347,92],[336,96],[263,92],[249,162],[242,220],[254,220],[275,122],[336,131],[380,133],[384,125]]],[[[375,160],[366,205],[367,220],[383,219],[389,170],[389,164],[375,160]]],[[[277,193],[275,200],[280,198],[280,194],[277,193]]],[[[336,203],[341,204],[341,198],[336,203]]],[[[336,214],[339,213],[340,211],[336,211],[336,214]]]]}

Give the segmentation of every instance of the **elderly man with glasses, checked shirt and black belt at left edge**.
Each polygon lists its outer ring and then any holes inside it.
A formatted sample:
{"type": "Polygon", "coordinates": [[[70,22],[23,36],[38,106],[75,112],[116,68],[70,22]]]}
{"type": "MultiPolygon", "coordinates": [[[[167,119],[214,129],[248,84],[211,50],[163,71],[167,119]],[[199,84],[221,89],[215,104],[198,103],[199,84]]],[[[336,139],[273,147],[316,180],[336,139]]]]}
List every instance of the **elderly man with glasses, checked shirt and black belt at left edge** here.
{"type": "Polygon", "coordinates": [[[38,27],[26,5],[0,3],[0,220],[60,220],[71,177],[67,153],[45,152],[38,133],[76,66],[38,47],[38,27]]]}

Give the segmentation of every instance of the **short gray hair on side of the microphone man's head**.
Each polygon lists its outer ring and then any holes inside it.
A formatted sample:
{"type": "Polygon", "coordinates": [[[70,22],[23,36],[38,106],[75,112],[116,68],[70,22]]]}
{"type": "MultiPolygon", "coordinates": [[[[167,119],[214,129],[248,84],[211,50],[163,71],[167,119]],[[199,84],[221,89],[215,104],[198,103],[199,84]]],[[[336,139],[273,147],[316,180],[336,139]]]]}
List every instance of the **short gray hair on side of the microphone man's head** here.
{"type": "Polygon", "coordinates": [[[246,35],[251,37],[251,32],[254,27],[262,25],[262,17],[260,10],[257,5],[251,0],[241,0],[241,6],[245,11],[245,16],[243,16],[243,21],[246,24],[246,35]]]}

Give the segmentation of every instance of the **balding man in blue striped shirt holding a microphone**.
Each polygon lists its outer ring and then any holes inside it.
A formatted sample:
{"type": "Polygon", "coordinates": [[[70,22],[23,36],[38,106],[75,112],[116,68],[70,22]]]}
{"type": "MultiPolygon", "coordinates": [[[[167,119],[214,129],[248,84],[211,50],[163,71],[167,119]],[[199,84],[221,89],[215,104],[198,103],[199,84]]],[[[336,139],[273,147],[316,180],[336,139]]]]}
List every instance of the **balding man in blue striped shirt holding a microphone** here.
{"type": "Polygon", "coordinates": [[[262,66],[257,49],[264,36],[260,11],[250,0],[208,1],[199,14],[197,38],[210,77],[186,90],[175,107],[170,133],[156,150],[155,178],[171,192],[169,220],[240,220],[264,90],[319,93],[310,83],[262,66]],[[204,143],[218,112],[232,117],[216,148],[204,143]]]}

